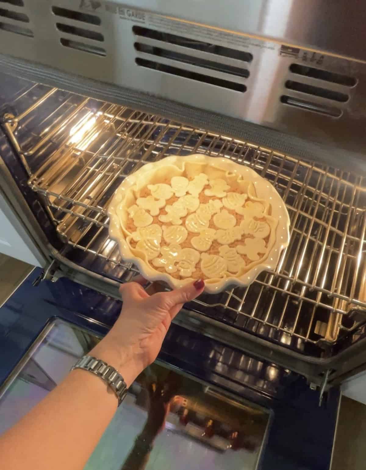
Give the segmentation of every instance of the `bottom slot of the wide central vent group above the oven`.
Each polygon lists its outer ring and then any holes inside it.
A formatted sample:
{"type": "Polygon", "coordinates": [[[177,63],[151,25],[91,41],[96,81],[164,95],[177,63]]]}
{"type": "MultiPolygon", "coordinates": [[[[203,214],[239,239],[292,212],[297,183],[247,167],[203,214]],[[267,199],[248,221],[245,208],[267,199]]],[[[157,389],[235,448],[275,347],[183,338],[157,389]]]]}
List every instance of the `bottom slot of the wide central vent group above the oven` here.
{"type": "Polygon", "coordinates": [[[141,67],[146,67],[148,69],[169,73],[178,77],[190,78],[191,80],[209,83],[211,85],[221,86],[223,88],[229,88],[230,90],[240,91],[242,93],[246,91],[246,86],[242,83],[231,82],[222,78],[211,77],[210,75],[204,75],[202,73],[179,69],[178,67],[172,67],[171,65],[141,59],[140,57],[137,57],[135,59],[135,62],[141,67]]]}

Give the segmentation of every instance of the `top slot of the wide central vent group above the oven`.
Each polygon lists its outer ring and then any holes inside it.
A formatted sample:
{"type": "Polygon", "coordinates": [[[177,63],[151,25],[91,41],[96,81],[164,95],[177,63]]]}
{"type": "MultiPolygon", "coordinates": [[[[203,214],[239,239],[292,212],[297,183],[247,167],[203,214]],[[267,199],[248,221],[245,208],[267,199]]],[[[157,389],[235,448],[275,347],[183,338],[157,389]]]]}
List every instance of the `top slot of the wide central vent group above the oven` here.
{"type": "Polygon", "coordinates": [[[197,51],[209,52],[210,54],[221,55],[222,57],[228,57],[243,62],[252,62],[253,59],[253,55],[249,52],[238,51],[236,49],[231,49],[230,47],[217,46],[216,44],[198,41],[197,39],[184,38],[175,34],[155,31],[149,28],[143,28],[141,26],[133,26],[132,31],[137,36],[144,38],[155,39],[166,42],[168,44],[188,47],[197,51]]]}

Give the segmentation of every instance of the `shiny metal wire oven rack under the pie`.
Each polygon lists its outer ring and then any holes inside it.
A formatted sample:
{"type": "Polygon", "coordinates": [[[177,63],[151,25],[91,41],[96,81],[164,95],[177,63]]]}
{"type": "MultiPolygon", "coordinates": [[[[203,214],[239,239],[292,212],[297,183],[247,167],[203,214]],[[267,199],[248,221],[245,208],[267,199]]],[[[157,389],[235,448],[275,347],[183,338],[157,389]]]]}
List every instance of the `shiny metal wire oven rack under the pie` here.
{"type": "Polygon", "coordinates": [[[191,308],[307,354],[354,331],[366,308],[364,177],[259,145],[40,84],[17,92],[4,116],[61,239],[123,264],[108,237],[107,207],[123,178],[167,155],[204,153],[248,165],[269,180],[290,214],[289,247],[247,288],[201,296],[191,308]]]}

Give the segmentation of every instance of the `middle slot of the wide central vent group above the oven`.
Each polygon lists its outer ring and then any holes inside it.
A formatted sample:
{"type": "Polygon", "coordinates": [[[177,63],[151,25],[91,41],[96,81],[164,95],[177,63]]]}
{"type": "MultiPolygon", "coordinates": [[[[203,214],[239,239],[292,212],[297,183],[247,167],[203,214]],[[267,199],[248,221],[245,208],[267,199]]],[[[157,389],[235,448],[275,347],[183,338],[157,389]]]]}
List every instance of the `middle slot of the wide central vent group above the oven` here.
{"type": "Polygon", "coordinates": [[[192,57],[191,55],[181,54],[180,52],[169,51],[160,47],[153,47],[147,44],[140,44],[135,42],[135,49],[138,52],[144,52],[145,54],[155,55],[157,57],[163,57],[165,59],[172,59],[177,62],[188,63],[191,65],[197,65],[205,69],[214,70],[217,72],[228,73],[229,75],[235,75],[236,77],[248,78],[249,70],[241,69],[239,67],[233,67],[219,62],[214,62],[200,57],[192,57]]]}

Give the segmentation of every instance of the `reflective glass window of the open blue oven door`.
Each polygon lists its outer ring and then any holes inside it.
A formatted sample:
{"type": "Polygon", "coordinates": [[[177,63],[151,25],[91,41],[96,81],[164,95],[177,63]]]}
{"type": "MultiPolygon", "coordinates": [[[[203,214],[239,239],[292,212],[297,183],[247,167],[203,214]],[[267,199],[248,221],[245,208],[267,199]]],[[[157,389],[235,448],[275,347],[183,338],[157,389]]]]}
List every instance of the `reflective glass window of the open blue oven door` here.
{"type": "MultiPolygon", "coordinates": [[[[60,383],[98,338],[54,321],[0,389],[0,433],[60,383]]],[[[269,415],[158,362],[137,377],[85,470],[256,469],[269,415]],[[149,436],[152,448],[141,444],[149,436]]]]}

